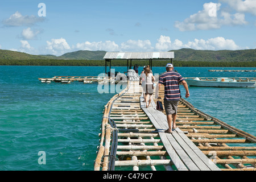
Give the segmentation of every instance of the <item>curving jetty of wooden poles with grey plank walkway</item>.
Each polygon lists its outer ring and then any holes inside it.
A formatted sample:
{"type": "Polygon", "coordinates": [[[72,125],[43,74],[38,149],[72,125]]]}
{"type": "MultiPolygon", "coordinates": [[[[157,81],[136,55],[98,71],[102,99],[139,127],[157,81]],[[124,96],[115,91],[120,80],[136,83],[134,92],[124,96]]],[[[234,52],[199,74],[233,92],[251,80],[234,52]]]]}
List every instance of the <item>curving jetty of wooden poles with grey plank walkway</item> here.
{"type": "MultiPolygon", "coordinates": [[[[141,86],[127,88],[105,105],[95,171],[255,171],[256,137],[196,109],[181,98],[172,134],[166,115],[142,102],[141,86]]],[[[163,87],[159,96],[164,98],[163,87]]],[[[156,101],[156,100],[155,100],[156,101]]],[[[163,101],[163,100],[162,100],[163,101]]]]}

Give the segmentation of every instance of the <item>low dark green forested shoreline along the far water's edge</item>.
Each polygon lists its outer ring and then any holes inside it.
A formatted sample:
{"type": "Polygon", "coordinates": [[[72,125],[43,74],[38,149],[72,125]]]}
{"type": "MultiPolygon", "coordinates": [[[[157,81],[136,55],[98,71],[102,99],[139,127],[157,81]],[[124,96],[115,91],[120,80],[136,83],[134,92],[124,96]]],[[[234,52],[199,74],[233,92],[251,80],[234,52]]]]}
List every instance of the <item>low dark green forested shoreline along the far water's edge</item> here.
{"type": "MultiPolygon", "coordinates": [[[[153,67],[163,67],[170,60],[153,60],[153,67]]],[[[209,62],[209,61],[175,61],[175,67],[256,67],[256,61],[246,62],[209,62]]],[[[130,61],[129,61],[130,64],[130,61]]],[[[132,66],[148,65],[148,60],[133,60],[132,66]]],[[[105,60],[56,60],[56,59],[30,59],[30,60],[0,60],[0,65],[35,65],[35,66],[105,66],[105,60]]],[[[109,65],[109,63],[107,64],[109,65]]],[[[112,60],[112,66],[126,67],[126,60],[112,60]]]]}

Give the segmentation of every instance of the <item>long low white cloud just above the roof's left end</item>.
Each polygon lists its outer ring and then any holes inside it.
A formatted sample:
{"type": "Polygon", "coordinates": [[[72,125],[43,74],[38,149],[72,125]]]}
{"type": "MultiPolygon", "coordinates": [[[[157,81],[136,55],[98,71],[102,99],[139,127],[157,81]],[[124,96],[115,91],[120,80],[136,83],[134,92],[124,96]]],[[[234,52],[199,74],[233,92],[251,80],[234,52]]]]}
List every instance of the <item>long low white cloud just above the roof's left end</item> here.
{"type": "Polygon", "coordinates": [[[77,43],[76,48],[88,51],[118,51],[119,46],[115,42],[107,40],[105,42],[77,43]]]}

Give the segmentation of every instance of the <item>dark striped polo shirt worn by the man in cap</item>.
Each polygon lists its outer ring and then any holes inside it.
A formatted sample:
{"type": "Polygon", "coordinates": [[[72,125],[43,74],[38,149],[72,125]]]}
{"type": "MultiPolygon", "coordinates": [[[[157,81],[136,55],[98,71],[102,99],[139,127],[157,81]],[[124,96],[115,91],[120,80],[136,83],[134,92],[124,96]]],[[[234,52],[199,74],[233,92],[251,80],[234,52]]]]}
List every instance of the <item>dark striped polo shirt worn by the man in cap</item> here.
{"type": "Polygon", "coordinates": [[[180,73],[174,71],[168,71],[159,77],[159,84],[164,85],[164,98],[167,101],[180,100],[179,82],[183,80],[184,78],[180,73]]]}

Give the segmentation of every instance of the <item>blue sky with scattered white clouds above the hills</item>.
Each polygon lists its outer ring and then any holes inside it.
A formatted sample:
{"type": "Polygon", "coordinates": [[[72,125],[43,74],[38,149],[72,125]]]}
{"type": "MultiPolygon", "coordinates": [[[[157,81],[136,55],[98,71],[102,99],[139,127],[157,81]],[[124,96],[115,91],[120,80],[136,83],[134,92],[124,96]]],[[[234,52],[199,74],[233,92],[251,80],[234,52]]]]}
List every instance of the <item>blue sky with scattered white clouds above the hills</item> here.
{"type": "Polygon", "coordinates": [[[35,55],[255,49],[255,32],[256,0],[0,2],[0,48],[35,55]]]}

